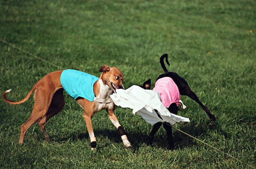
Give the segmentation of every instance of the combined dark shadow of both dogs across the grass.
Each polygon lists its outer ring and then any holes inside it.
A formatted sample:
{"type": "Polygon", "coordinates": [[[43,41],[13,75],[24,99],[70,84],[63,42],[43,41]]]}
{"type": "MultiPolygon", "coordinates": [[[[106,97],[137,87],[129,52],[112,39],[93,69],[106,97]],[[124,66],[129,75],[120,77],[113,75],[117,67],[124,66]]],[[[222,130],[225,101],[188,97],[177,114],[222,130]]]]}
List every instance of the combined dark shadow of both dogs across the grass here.
{"type": "MultiPolygon", "coordinates": [[[[162,127],[162,126],[161,126],[162,127]]],[[[163,127],[162,127],[163,128],[163,127]]],[[[181,131],[184,131],[188,133],[189,135],[192,135],[195,138],[209,138],[210,140],[215,140],[212,132],[217,132],[220,135],[223,135],[225,138],[230,138],[231,136],[222,130],[221,126],[217,122],[206,122],[206,123],[200,123],[194,124],[193,122],[190,122],[189,125],[180,125],[179,129],[181,131]],[[212,138],[211,138],[212,137],[212,138]]],[[[151,128],[148,128],[148,133],[150,132],[151,128]]],[[[175,127],[172,128],[173,130],[173,137],[175,142],[175,149],[184,149],[187,147],[193,147],[198,144],[198,141],[196,141],[194,138],[191,138],[190,136],[182,133],[181,131],[178,131],[175,129],[175,127]]],[[[148,133],[143,133],[141,131],[128,131],[127,136],[132,144],[132,150],[138,150],[141,146],[151,146],[152,148],[162,148],[168,150],[168,140],[166,131],[158,131],[155,134],[154,143],[151,145],[148,145],[148,133]],[[158,133],[159,132],[159,133],[158,133]]],[[[102,138],[108,138],[109,141],[100,143],[97,145],[98,149],[101,149],[101,146],[108,147],[110,144],[116,143],[120,144],[121,138],[116,130],[108,130],[108,129],[94,129],[94,134],[96,137],[102,137],[102,138]]],[[[54,140],[56,142],[65,142],[67,140],[76,141],[79,140],[87,140],[89,139],[89,135],[87,132],[77,134],[73,133],[70,135],[67,135],[64,138],[54,140]]],[[[201,143],[200,143],[201,144],[201,143]]]]}

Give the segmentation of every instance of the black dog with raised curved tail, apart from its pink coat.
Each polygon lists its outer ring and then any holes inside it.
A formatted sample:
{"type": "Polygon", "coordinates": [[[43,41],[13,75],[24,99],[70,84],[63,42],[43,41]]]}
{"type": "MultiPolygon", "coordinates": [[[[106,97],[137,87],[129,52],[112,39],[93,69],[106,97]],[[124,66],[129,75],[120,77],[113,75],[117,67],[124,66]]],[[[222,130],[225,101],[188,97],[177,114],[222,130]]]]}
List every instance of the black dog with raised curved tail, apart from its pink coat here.
{"type": "MultiPolygon", "coordinates": [[[[158,78],[156,79],[159,80],[163,77],[170,77],[173,79],[173,81],[175,82],[175,84],[177,85],[179,92],[181,95],[186,95],[189,96],[191,99],[195,100],[201,107],[202,109],[208,114],[209,118],[211,119],[211,121],[216,121],[215,116],[209,111],[209,109],[204,106],[202,104],[202,102],[198,99],[198,97],[196,96],[196,94],[189,88],[189,85],[187,83],[187,81],[185,81],[182,77],[180,77],[178,74],[176,74],[175,72],[168,72],[168,70],[165,67],[164,64],[164,58],[166,58],[166,63],[168,65],[168,55],[164,54],[160,57],[160,63],[162,66],[162,69],[164,70],[164,74],[158,76],[158,78]]],[[[145,81],[143,83],[143,86],[141,86],[144,89],[150,89],[151,88],[151,80],[148,79],[148,81],[145,81]]],[[[172,103],[169,107],[167,107],[169,112],[177,114],[178,113],[178,106],[175,103],[172,103]]],[[[149,134],[149,141],[148,144],[152,144],[153,143],[153,138],[154,135],[156,133],[156,131],[158,131],[158,129],[161,127],[162,123],[158,122],[153,126],[153,129],[151,131],[151,133],[149,134]]],[[[173,150],[174,149],[174,144],[173,144],[173,136],[172,136],[172,128],[171,125],[168,123],[163,123],[163,127],[164,129],[167,131],[167,138],[168,138],[168,144],[169,144],[169,149],[173,150]]]]}

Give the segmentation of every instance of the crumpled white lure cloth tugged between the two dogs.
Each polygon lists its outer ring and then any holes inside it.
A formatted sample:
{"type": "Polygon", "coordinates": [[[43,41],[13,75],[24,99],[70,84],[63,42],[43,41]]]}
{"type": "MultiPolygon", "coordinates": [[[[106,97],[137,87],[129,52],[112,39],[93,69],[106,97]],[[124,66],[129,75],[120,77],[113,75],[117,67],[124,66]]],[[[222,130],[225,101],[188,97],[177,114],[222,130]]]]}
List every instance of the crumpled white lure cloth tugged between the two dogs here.
{"type": "Polygon", "coordinates": [[[153,90],[145,90],[139,86],[124,89],[116,89],[116,93],[110,95],[116,106],[130,108],[133,114],[138,113],[149,124],[168,122],[174,125],[176,122],[189,122],[189,118],[170,113],[162,104],[160,94],[153,90]],[[158,117],[158,111],[161,118],[158,117]]]}

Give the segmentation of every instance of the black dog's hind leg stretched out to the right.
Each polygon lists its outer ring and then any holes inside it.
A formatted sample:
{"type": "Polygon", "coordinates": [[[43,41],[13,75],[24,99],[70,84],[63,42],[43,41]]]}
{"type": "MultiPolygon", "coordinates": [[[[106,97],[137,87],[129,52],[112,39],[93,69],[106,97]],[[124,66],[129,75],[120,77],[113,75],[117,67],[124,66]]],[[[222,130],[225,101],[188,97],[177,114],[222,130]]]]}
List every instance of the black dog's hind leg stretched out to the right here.
{"type": "Polygon", "coordinates": [[[216,117],[209,111],[209,109],[202,104],[202,102],[198,99],[197,95],[189,88],[189,84],[185,79],[182,77],[177,78],[177,86],[179,88],[180,94],[181,95],[186,95],[189,96],[192,100],[195,100],[205,111],[205,113],[209,116],[211,121],[216,121],[216,117]]]}

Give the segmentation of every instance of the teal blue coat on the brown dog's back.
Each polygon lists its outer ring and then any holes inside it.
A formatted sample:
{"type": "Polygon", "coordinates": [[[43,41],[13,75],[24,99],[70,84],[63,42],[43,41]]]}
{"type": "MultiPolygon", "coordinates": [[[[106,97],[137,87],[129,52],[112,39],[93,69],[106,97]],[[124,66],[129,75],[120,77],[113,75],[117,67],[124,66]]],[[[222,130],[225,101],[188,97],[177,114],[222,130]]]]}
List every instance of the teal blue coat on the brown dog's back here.
{"type": "Polygon", "coordinates": [[[61,73],[61,85],[64,90],[74,99],[78,97],[93,101],[94,83],[98,77],[78,70],[67,69],[61,73]]]}

